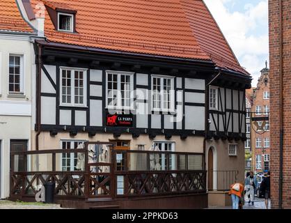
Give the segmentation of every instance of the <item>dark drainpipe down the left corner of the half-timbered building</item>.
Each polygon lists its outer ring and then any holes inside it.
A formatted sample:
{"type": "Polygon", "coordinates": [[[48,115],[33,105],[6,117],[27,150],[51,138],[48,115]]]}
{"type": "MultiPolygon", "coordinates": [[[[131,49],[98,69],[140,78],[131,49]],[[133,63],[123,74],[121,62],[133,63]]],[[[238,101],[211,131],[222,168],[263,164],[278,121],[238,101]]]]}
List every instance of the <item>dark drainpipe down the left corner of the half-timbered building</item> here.
{"type": "Polygon", "coordinates": [[[40,118],[41,118],[41,114],[40,114],[40,88],[41,88],[41,65],[42,65],[42,59],[41,59],[41,54],[42,54],[42,48],[41,48],[41,45],[38,44],[38,68],[37,68],[37,74],[36,74],[36,77],[37,77],[37,82],[36,82],[36,95],[37,95],[37,98],[36,98],[36,105],[37,105],[37,118],[36,118],[36,121],[37,121],[37,125],[38,125],[38,132],[36,133],[36,150],[38,151],[39,150],[39,144],[38,144],[38,139],[39,139],[39,136],[40,136],[40,118]]]}

